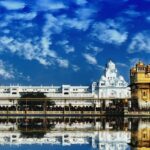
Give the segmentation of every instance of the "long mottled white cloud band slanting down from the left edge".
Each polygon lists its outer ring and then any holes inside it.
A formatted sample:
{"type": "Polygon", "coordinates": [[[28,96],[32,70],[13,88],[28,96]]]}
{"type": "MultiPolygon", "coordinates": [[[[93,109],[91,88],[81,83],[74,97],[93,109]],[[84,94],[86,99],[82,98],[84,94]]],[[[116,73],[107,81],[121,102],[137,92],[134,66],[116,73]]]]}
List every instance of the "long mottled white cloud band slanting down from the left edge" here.
{"type": "Polygon", "coordinates": [[[34,41],[34,39],[17,41],[17,39],[13,39],[12,37],[1,37],[0,51],[11,52],[24,57],[27,60],[37,60],[44,66],[55,65],[57,63],[60,67],[69,67],[68,60],[59,57],[53,50],[43,49],[40,43],[32,44],[32,41],[34,41]]]}

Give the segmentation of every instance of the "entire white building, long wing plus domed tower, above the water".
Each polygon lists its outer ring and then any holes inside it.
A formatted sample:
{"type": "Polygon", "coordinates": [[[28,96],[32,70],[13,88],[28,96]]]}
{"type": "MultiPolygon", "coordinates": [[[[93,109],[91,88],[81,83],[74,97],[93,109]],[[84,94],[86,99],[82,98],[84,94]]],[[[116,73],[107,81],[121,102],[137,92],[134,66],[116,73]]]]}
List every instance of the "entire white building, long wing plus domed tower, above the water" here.
{"type": "MultiPolygon", "coordinates": [[[[42,92],[49,98],[129,98],[130,88],[122,76],[118,75],[115,64],[109,61],[105,74],[98,83],[93,82],[91,86],[0,86],[0,99],[19,98],[23,93],[42,92]]],[[[12,101],[0,101],[0,105],[12,105],[12,101]]],[[[67,102],[65,104],[68,104],[67,102]]],[[[91,101],[69,102],[72,105],[93,105],[91,101]]],[[[64,101],[57,101],[56,105],[64,105],[64,101]]]]}

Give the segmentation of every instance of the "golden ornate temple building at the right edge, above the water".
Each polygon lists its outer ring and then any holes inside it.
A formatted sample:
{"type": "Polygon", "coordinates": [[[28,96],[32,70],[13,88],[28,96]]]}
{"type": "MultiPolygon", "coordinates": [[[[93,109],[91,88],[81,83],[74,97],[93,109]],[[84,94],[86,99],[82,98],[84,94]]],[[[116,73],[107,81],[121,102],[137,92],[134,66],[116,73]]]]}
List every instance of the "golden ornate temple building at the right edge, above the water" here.
{"type": "Polygon", "coordinates": [[[133,105],[150,108],[150,65],[139,61],[130,70],[130,80],[133,105]]]}

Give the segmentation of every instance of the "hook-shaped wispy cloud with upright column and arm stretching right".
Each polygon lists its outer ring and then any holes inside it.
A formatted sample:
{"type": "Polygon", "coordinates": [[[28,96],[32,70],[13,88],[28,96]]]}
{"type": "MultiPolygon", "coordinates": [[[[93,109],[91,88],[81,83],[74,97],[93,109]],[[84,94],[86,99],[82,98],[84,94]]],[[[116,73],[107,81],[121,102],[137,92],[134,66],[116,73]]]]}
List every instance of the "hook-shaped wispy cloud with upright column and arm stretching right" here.
{"type": "Polygon", "coordinates": [[[68,18],[66,15],[55,17],[52,14],[46,14],[45,19],[43,38],[47,39],[47,43],[49,41],[49,46],[52,44],[50,41],[53,34],[60,34],[66,27],[86,31],[92,21],[90,19],[68,18]]]}

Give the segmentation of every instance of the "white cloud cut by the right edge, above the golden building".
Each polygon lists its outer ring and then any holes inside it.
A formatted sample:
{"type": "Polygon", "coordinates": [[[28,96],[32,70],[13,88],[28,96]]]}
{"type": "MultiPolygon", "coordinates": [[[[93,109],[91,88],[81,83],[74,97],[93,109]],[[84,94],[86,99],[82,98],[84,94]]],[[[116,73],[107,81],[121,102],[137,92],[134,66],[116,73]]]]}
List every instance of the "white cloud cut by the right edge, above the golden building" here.
{"type": "Polygon", "coordinates": [[[146,52],[150,53],[150,31],[137,33],[128,47],[129,53],[146,52]]]}

